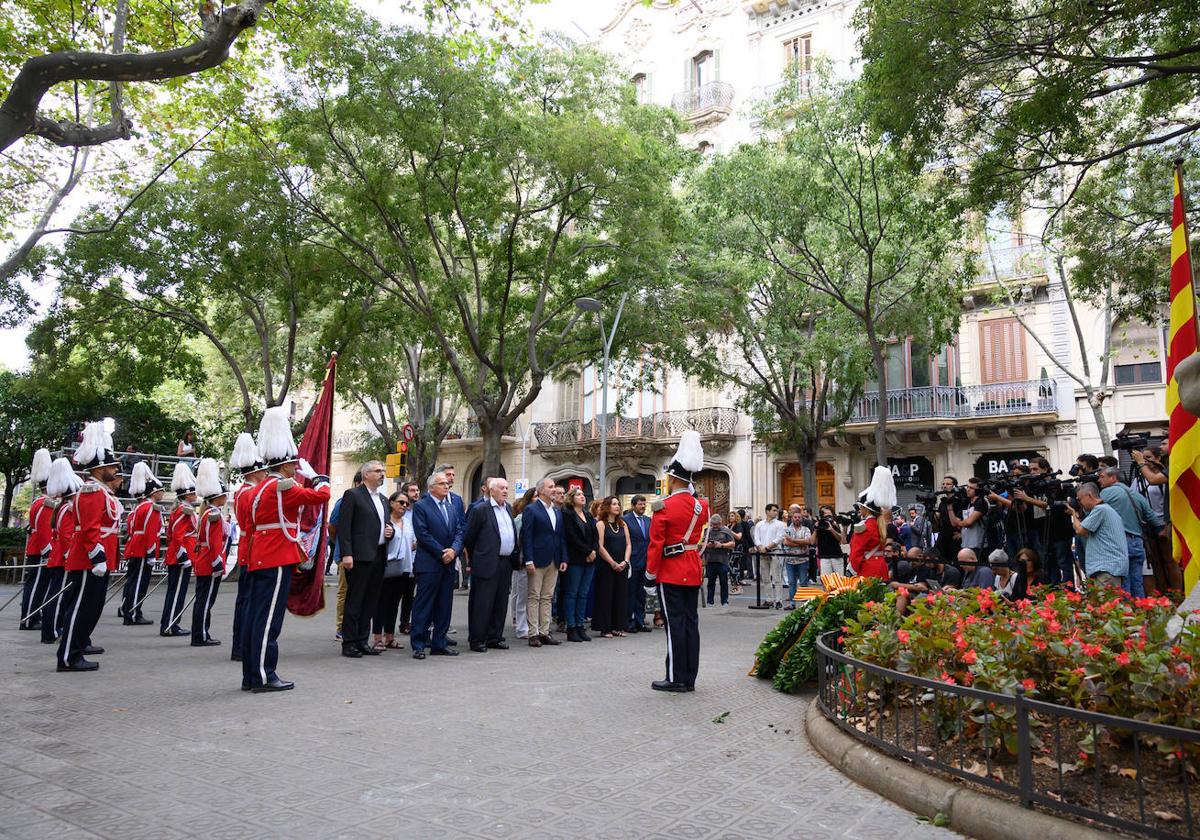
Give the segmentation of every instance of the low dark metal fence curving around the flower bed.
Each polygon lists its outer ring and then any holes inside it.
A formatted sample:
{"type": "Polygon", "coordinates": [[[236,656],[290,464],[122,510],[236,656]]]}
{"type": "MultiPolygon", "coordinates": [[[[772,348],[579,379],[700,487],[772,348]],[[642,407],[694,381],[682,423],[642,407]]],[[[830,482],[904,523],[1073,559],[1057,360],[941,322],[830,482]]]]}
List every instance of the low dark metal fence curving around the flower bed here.
{"type": "Polygon", "coordinates": [[[1200,836],[1200,732],[901,673],[841,653],[838,636],[817,640],[817,703],[859,740],[1025,808],[1200,836]]]}

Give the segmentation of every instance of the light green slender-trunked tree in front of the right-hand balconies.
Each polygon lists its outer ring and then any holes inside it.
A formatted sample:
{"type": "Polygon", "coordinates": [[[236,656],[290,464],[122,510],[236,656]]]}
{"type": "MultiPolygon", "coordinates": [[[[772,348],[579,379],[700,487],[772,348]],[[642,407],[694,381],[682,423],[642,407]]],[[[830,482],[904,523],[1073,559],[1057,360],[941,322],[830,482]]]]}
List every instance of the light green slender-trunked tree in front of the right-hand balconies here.
{"type": "Polygon", "coordinates": [[[962,214],[952,184],[914,173],[871,130],[857,86],[794,92],[767,115],[775,139],[742,146],[700,179],[696,216],[724,228],[724,247],[761,275],[815,295],[805,298],[814,314],[832,304],[850,317],[874,366],[875,457],[887,463],[887,344],[912,336],[941,347],[954,335],[970,276],[962,214]]]}

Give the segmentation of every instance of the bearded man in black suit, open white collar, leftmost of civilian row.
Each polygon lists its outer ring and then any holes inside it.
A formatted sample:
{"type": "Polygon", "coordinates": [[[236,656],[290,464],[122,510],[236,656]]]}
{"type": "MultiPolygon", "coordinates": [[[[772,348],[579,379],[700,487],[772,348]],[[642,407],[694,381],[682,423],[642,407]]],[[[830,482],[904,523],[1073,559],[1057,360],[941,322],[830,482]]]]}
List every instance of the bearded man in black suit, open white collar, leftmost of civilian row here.
{"type": "Polygon", "coordinates": [[[346,570],[346,610],[342,614],[342,655],[359,659],[380,652],[367,644],[371,618],[379,602],[386,565],[391,517],[388,499],[379,492],[384,467],[380,461],[362,464],[362,484],[342,494],[337,520],[337,547],[346,570]]]}

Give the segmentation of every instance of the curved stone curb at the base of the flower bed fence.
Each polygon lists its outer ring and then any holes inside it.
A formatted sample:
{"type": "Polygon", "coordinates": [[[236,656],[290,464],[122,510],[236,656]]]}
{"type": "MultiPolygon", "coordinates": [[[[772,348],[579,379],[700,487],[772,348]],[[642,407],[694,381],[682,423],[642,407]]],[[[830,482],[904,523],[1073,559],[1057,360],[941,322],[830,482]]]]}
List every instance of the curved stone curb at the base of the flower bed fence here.
{"type": "Polygon", "coordinates": [[[914,814],[932,818],[942,812],[949,827],[978,840],[1111,840],[1099,832],[1014,802],[978,793],[892,758],[826,719],[814,700],[804,715],[804,731],[817,752],[852,781],[914,814]]]}

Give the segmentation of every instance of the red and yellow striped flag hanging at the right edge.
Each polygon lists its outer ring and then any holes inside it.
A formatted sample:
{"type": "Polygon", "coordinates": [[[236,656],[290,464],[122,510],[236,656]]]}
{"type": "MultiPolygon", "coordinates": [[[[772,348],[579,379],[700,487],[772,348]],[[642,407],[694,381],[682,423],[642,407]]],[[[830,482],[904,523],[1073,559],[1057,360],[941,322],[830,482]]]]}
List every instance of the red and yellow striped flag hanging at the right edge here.
{"type": "Polygon", "coordinates": [[[1166,416],[1170,418],[1169,467],[1171,554],[1183,569],[1183,592],[1200,578],[1200,420],[1180,404],[1176,366],[1198,350],[1196,296],[1183,205],[1183,164],[1175,163],[1171,210],[1171,331],[1166,350],[1166,416]]]}

